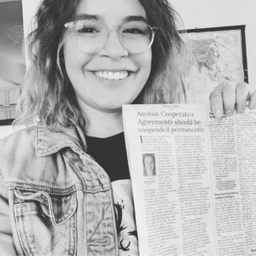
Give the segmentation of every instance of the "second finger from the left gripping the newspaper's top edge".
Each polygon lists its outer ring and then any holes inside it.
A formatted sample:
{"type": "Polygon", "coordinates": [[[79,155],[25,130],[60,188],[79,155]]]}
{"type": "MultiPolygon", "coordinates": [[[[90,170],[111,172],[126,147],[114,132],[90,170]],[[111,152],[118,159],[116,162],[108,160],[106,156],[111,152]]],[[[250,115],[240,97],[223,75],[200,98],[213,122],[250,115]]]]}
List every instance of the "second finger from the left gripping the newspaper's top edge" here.
{"type": "Polygon", "coordinates": [[[236,104],[236,86],[232,83],[224,84],[223,88],[223,103],[224,112],[226,115],[230,116],[235,111],[236,104]]]}

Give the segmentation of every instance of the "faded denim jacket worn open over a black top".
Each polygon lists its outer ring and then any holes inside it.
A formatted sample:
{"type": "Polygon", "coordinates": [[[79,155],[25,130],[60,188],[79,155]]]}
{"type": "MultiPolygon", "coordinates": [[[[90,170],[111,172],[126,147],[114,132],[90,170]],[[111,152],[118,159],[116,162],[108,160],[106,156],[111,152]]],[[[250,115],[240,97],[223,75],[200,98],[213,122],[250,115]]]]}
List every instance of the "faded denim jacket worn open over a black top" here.
{"type": "Polygon", "coordinates": [[[79,128],[0,141],[0,255],[118,255],[108,174],[85,152],[79,128]]]}

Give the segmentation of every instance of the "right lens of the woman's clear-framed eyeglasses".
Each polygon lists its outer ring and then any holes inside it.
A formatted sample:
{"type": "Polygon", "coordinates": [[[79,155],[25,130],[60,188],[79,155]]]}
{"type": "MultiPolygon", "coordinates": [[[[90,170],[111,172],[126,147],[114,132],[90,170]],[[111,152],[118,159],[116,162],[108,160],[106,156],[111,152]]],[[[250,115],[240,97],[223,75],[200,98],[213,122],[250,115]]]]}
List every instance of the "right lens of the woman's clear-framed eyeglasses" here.
{"type": "Polygon", "coordinates": [[[129,22],[120,28],[120,39],[130,53],[141,53],[153,43],[153,31],[144,22],[129,22]]]}

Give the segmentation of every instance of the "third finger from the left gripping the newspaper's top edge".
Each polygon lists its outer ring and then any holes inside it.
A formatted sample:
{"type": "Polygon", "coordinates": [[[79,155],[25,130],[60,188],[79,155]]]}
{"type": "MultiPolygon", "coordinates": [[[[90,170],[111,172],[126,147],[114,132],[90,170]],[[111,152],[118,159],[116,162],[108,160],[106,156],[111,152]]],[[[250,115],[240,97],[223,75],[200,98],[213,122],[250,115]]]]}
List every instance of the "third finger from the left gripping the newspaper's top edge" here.
{"type": "Polygon", "coordinates": [[[243,113],[247,108],[247,96],[249,94],[249,86],[247,83],[239,83],[236,86],[236,111],[243,113]]]}

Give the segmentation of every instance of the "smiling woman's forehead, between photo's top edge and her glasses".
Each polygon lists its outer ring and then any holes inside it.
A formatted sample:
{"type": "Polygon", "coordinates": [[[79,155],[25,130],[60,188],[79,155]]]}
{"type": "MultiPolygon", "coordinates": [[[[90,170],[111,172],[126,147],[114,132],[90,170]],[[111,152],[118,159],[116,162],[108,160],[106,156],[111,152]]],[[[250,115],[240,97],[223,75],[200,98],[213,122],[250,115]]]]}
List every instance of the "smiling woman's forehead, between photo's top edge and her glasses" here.
{"type": "Polygon", "coordinates": [[[81,0],[76,15],[96,15],[102,21],[114,24],[128,16],[143,16],[146,13],[138,0],[81,0]]]}

